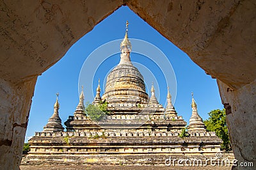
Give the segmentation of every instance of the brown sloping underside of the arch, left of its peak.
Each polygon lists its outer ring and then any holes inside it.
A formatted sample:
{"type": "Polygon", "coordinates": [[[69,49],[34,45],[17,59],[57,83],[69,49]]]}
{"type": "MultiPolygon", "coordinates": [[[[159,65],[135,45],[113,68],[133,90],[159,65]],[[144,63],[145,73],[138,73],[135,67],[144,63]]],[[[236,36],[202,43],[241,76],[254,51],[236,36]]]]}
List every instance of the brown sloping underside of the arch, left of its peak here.
{"type": "Polygon", "coordinates": [[[2,79],[20,82],[40,75],[120,5],[118,1],[1,1],[2,79]]]}

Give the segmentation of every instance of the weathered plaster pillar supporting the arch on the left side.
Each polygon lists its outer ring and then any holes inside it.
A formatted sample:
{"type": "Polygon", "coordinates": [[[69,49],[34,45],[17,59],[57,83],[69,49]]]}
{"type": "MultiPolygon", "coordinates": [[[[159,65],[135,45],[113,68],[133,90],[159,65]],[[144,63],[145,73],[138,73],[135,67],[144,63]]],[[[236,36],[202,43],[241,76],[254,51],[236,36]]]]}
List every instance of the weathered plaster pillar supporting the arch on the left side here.
{"type": "Polygon", "coordinates": [[[13,86],[0,79],[0,165],[19,168],[36,79],[13,86]]]}

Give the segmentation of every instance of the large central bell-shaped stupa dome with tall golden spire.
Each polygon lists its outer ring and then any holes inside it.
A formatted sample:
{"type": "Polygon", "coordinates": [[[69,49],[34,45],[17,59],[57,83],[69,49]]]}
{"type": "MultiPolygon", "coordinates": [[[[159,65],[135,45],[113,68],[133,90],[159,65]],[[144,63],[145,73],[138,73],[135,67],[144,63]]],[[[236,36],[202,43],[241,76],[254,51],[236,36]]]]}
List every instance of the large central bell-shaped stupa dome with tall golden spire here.
{"type": "Polygon", "coordinates": [[[128,39],[128,24],[127,22],[124,40],[120,44],[120,63],[109,73],[102,96],[109,104],[148,103],[143,76],[130,59],[132,45],[128,39]]]}

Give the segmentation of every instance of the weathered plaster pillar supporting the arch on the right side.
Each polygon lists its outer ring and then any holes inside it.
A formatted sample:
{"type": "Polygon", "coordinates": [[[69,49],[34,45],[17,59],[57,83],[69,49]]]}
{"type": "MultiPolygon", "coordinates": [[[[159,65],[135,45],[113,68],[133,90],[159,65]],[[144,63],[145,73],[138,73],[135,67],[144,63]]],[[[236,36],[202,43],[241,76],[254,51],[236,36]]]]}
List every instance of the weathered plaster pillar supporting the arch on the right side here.
{"type": "Polygon", "coordinates": [[[218,81],[218,86],[227,110],[228,132],[234,155],[239,162],[253,162],[256,165],[256,81],[235,91],[221,81],[218,81]]]}

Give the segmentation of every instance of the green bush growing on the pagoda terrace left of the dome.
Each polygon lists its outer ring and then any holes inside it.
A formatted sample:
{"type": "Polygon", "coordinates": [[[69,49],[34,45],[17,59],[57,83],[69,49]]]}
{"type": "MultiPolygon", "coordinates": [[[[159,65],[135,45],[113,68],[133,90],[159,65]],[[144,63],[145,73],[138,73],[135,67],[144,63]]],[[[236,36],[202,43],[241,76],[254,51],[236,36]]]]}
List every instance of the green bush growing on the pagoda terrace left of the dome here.
{"type": "Polygon", "coordinates": [[[88,104],[85,112],[93,121],[103,120],[108,113],[108,102],[100,102],[98,105],[88,104]]]}

